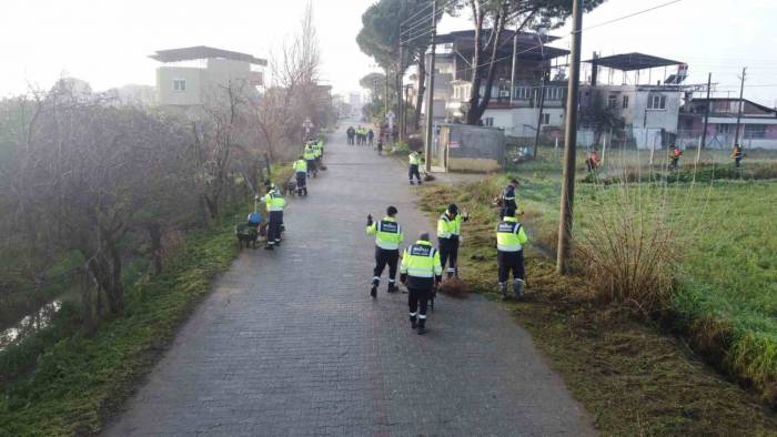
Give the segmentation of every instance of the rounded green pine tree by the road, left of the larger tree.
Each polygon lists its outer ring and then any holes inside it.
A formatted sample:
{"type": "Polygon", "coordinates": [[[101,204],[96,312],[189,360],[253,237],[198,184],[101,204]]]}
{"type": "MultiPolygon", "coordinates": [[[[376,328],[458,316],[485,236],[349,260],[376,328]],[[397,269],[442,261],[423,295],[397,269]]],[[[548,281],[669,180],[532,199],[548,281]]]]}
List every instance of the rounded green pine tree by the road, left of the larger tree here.
{"type": "MultiPolygon", "coordinates": [[[[356,37],[360,49],[384,69],[404,74],[411,63],[418,70],[415,108],[421,108],[425,93],[426,49],[432,23],[432,0],[380,0],[362,14],[363,28],[356,37]],[[410,19],[410,20],[408,20],[410,19]],[[400,23],[405,22],[401,29],[400,23]],[[400,68],[400,43],[404,43],[400,68]]],[[[440,21],[442,13],[435,17],[440,21]]],[[[402,90],[394,87],[397,100],[402,90]]],[[[415,111],[413,124],[418,130],[421,113],[415,111]]]]}

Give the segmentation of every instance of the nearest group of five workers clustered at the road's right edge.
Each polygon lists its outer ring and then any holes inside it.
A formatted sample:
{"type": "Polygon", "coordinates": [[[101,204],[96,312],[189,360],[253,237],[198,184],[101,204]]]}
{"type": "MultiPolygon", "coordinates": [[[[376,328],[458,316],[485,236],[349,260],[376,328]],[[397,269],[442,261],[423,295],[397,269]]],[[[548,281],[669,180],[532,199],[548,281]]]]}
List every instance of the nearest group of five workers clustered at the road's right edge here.
{"type": "MultiPolygon", "coordinates": [[[[500,196],[500,222],[496,225],[496,262],[498,264],[498,285],[502,301],[508,299],[507,282],[512,274],[513,294],[521,298],[525,282],[523,246],[528,241],[523,225],[518,222],[515,201],[517,181],[512,180],[500,196]]],[[[404,241],[402,225],[396,221],[395,206],[386,209],[386,215],[373,220],[367,214],[367,235],[375,236],[375,267],[373,270],[370,296],[377,298],[381,276],[389,266],[387,293],[396,293],[396,273],[398,266],[400,282],[407,288],[407,306],[411,328],[418,335],[426,333],[427,308],[435,292],[446,277],[458,276],[458,246],[462,238],[462,223],[470,218],[466,210],[461,213],[458,206],[450,204],[437,218],[437,247],[431,243],[430,234],[422,232],[415,243],[406,246],[400,256],[400,246],[404,241]],[[402,260],[400,262],[400,258],[402,260]]]]}

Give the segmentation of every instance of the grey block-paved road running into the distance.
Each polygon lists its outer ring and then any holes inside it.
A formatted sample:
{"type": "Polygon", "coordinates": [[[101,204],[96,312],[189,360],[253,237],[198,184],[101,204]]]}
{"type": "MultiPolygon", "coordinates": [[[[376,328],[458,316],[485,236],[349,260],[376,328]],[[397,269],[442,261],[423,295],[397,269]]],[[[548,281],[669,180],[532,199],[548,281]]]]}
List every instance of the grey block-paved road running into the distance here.
{"type": "Polygon", "coordinates": [[[496,303],[442,297],[415,335],[406,295],[372,301],[365,215],[433,231],[405,171],[336,134],[292,200],[275,252],[245,251],[108,435],[591,435],[589,420],[496,303]]]}

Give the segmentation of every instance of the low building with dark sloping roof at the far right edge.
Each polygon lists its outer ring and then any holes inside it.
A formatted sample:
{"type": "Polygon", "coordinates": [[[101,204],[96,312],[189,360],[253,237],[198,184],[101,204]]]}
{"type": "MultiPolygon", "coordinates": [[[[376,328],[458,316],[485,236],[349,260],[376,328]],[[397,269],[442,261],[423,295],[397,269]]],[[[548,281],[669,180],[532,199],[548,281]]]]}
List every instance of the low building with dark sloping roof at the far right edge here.
{"type": "Polygon", "coordinates": [[[695,98],[693,94],[687,96],[680,109],[678,144],[696,146],[700,143],[707,105],[707,146],[730,149],[734,145],[737,115],[741,109],[739,144],[746,149],[777,150],[777,110],[746,99],[707,99],[695,98]]]}

